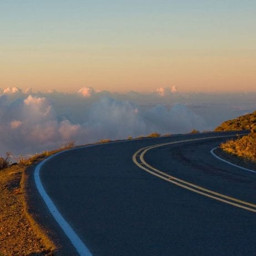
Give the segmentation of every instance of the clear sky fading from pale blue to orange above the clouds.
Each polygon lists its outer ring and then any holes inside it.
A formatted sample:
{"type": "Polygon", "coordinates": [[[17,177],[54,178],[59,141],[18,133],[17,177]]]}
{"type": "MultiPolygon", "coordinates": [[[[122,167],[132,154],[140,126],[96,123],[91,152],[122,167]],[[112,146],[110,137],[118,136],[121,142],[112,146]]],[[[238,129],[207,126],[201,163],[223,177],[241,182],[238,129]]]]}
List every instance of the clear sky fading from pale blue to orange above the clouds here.
{"type": "Polygon", "coordinates": [[[2,0],[0,88],[256,91],[255,0],[2,0]]]}

